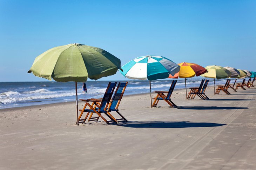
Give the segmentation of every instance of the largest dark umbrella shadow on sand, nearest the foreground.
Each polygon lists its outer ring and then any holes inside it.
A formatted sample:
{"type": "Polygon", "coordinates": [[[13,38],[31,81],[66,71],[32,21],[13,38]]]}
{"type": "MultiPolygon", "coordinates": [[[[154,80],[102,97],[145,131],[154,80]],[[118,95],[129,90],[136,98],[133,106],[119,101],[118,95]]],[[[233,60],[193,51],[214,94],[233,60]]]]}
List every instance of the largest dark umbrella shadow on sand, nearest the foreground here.
{"type": "Polygon", "coordinates": [[[128,121],[117,126],[133,128],[186,128],[186,127],[217,127],[226,124],[189,122],[189,121],[128,121]]]}

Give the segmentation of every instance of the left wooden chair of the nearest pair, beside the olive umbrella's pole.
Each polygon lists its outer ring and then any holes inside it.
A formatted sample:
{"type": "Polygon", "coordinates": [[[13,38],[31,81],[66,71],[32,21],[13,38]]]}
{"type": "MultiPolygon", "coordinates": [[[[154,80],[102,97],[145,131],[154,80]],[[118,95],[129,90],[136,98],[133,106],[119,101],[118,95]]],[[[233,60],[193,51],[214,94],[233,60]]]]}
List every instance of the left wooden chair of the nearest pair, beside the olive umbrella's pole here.
{"type": "Polygon", "coordinates": [[[101,113],[106,114],[106,116],[111,119],[114,123],[117,123],[117,120],[107,111],[108,108],[108,104],[110,102],[110,99],[113,95],[114,89],[116,86],[116,82],[115,83],[108,83],[108,87],[106,89],[106,92],[103,96],[103,98],[101,99],[101,102],[99,102],[99,99],[79,99],[81,101],[85,102],[85,106],[83,107],[83,109],[79,110],[81,111],[80,116],[79,116],[79,121],[78,123],[85,123],[89,113],[96,113],[98,115],[98,117],[92,118],[92,114],[90,116],[90,119],[94,119],[96,121],[99,120],[99,118],[102,118],[108,125],[110,125],[110,121],[106,120],[101,113]],[[90,104],[89,102],[92,102],[92,104],[90,104]],[[99,105],[100,103],[100,105],[99,105]],[[87,106],[89,107],[89,109],[86,109],[87,106]],[[81,119],[83,112],[87,112],[85,119],[81,119]]]}

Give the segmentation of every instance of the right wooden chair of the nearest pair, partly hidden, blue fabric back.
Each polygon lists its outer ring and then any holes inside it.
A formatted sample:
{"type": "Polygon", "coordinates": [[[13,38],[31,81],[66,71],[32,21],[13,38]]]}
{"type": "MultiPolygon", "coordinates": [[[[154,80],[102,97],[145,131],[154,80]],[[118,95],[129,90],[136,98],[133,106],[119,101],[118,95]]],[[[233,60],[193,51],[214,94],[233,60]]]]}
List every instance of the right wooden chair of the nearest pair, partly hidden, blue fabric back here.
{"type": "MultiPolygon", "coordinates": [[[[115,119],[115,121],[117,123],[118,123],[118,120],[127,121],[127,119],[124,118],[123,115],[118,110],[119,104],[122,100],[123,93],[124,93],[124,90],[126,89],[127,84],[128,84],[128,82],[126,82],[126,83],[120,83],[119,82],[118,83],[118,85],[116,87],[116,90],[115,90],[115,93],[114,93],[112,99],[109,102],[108,109],[106,110],[109,115],[111,115],[109,112],[116,111],[116,113],[119,114],[119,116],[121,116],[120,119],[115,119]]],[[[95,98],[92,98],[92,99],[97,101],[96,103],[98,105],[102,102],[102,99],[95,99],[95,98]]],[[[92,119],[92,115],[93,115],[93,113],[90,114],[88,122],[90,121],[90,119],[92,119]]],[[[99,119],[99,117],[96,117],[96,118],[99,119]]]]}

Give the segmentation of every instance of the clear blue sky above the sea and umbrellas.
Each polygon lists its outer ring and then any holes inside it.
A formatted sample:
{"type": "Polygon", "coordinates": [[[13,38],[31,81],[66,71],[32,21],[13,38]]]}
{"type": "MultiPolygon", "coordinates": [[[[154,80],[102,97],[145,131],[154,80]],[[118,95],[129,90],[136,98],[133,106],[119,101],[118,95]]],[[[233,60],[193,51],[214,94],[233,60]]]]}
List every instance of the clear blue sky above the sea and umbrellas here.
{"type": "Polygon", "coordinates": [[[35,57],[70,43],[121,65],[149,54],[256,71],[256,1],[0,0],[0,82],[47,81],[27,73],[35,57]]]}

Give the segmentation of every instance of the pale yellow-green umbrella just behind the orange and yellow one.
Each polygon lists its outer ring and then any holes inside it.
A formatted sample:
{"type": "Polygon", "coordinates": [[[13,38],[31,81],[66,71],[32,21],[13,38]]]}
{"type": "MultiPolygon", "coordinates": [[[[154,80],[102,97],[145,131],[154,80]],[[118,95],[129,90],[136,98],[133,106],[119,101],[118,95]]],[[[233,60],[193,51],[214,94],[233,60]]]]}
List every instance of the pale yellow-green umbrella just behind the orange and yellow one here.
{"type": "Polygon", "coordinates": [[[204,67],[207,69],[207,73],[202,74],[202,77],[207,77],[207,78],[213,78],[214,79],[214,93],[215,93],[215,79],[225,79],[228,78],[232,75],[228,69],[221,67],[221,66],[206,66],[204,67]]]}

